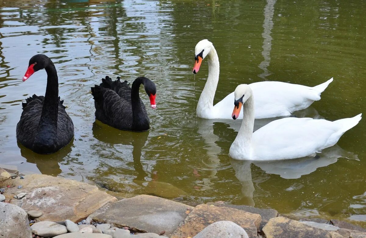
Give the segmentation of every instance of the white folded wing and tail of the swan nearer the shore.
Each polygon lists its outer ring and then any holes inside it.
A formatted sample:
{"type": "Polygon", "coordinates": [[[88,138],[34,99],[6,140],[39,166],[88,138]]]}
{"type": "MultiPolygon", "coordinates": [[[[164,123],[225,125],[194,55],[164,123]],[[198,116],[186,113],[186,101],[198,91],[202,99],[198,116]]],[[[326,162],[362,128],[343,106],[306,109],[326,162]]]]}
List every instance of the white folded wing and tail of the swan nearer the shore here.
{"type": "Polygon", "coordinates": [[[282,160],[309,156],[335,145],[360,119],[361,114],[334,122],[312,118],[275,120],[253,133],[253,158],[282,160]]]}

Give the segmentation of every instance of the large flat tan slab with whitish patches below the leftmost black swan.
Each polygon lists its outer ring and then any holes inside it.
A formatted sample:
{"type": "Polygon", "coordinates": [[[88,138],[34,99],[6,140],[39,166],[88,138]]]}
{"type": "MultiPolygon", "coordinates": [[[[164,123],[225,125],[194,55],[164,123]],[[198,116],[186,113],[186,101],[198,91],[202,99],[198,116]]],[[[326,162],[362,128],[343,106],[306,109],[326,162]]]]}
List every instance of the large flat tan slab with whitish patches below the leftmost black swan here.
{"type": "Polygon", "coordinates": [[[44,174],[30,174],[24,179],[12,179],[13,186],[4,195],[7,199],[20,192],[27,193],[22,199],[12,199],[11,204],[26,211],[38,210],[40,221],[59,221],[70,219],[78,222],[105,204],[117,199],[96,186],[65,178],[44,174]],[[18,189],[21,185],[22,188],[18,189]]]}

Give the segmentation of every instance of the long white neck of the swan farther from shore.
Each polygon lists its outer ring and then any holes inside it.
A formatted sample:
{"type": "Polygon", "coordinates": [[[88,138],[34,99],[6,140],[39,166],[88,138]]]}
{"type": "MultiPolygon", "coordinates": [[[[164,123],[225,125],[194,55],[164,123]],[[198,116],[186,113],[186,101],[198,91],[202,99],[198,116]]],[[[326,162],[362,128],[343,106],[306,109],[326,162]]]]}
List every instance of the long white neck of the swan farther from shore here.
{"type": "Polygon", "coordinates": [[[197,104],[197,115],[201,118],[209,118],[213,110],[213,98],[215,96],[217,83],[219,82],[220,64],[215,48],[212,46],[208,58],[208,77],[205,88],[199,97],[197,104]]]}

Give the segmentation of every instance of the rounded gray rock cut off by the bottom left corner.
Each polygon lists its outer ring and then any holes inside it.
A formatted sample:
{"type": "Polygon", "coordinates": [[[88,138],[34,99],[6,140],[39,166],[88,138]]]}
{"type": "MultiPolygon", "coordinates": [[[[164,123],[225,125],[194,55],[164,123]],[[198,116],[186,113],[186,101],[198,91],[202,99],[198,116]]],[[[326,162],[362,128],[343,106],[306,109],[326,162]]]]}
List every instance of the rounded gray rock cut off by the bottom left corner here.
{"type": "Polygon", "coordinates": [[[9,203],[0,203],[0,227],[0,233],[6,234],[6,237],[32,237],[27,213],[22,208],[9,203]]]}

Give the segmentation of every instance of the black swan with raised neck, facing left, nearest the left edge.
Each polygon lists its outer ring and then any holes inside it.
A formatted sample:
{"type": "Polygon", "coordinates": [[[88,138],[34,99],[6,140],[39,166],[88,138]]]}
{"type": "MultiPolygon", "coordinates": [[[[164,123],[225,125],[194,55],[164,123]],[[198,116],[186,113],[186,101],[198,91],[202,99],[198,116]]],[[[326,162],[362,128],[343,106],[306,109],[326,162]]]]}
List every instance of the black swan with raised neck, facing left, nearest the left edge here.
{"type": "Polygon", "coordinates": [[[45,96],[33,95],[23,103],[23,112],[16,125],[16,138],[38,154],[51,154],[66,146],[74,137],[74,124],[59,97],[59,82],[55,65],[44,54],[29,60],[23,82],[34,72],[45,69],[45,96]]]}

